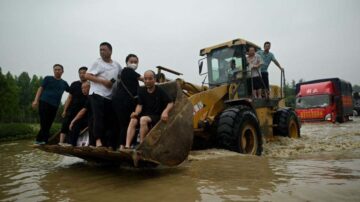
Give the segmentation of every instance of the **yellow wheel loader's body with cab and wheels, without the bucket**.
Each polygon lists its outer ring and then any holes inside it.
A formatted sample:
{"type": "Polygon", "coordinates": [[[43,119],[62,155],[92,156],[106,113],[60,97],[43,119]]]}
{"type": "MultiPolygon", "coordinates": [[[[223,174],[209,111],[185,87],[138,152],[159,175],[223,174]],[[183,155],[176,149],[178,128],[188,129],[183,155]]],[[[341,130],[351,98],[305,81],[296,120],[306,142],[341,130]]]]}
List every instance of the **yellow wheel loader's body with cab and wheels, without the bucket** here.
{"type": "MultiPolygon", "coordinates": [[[[199,74],[206,74],[205,87],[178,81],[193,105],[193,149],[218,147],[260,155],[262,143],[275,135],[300,137],[300,121],[285,107],[281,72],[279,86],[271,86],[269,98],[252,96],[251,71],[247,69],[249,47],[243,39],[231,40],[200,50],[199,74]],[[204,62],[207,72],[202,73],[204,62]]],[[[264,84],[264,83],[263,83],[264,84]]]]}

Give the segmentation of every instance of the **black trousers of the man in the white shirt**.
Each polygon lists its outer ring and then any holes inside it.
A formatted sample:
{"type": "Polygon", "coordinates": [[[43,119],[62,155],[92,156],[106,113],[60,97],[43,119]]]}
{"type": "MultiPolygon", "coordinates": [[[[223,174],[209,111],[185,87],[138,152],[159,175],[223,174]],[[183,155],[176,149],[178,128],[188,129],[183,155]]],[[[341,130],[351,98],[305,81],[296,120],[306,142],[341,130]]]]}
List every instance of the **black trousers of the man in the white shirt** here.
{"type": "Polygon", "coordinates": [[[100,95],[89,96],[92,112],[92,133],[95,140],[100,139],[103,146],[115,147],[114,142],[114,119],[111,100],[100,95]]]}

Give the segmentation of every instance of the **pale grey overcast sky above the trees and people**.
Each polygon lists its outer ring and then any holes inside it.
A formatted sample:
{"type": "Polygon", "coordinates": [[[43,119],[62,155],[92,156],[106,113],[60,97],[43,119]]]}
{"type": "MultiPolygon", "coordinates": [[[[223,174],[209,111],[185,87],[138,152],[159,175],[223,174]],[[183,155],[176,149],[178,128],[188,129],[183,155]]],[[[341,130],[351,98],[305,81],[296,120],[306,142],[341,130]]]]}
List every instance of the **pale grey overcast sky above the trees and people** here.
{"type": "MultiPolygon", "coordinates": [[[[260,46],[271,41],[288,81],[340,77],[360,84],[356,0],[0,0],[0,27],[3,73],[46,76],[60,63],[70,83],[108,41],[121,65],[135,53],[140,73],[162,65],[200,83],[199,50],[244,38],[260,46]]],[[[278,75],[272,64],[271,83],[278,75]]]]}

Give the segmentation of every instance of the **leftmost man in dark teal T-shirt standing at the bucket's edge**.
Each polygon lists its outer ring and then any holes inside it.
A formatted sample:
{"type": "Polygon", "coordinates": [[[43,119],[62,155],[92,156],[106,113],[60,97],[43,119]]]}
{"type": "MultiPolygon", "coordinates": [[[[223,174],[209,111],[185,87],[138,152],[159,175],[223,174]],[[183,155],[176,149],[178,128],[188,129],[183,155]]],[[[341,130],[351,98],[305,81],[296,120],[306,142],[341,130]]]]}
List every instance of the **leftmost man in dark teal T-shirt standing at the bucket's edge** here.
{"type": "Polygon", "coordinates": [[[47,144],[61,97],[64,91],[69,92],[68,83],[61,78],[64,67],[61,64],[55,64],[53,71],[54,76],[46,76],[42,81],[32,103],[34,109],[39,106],[40,131],[35,140],[37,145],[47,144]]]}

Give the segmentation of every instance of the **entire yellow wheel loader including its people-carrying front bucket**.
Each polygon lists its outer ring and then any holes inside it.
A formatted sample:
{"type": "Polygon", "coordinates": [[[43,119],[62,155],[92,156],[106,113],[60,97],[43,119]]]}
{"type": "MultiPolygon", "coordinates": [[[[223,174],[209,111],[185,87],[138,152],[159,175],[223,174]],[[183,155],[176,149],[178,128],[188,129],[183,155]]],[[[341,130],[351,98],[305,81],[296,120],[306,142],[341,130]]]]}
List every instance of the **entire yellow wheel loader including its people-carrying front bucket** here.
{"type": "Polygon", "coordinates": [[[259,46],[235,39],[200,50],[199,74],[208,82],[196,85],[182,79],[169,81],[158,66],[159,86],[175,100],[167,123],[157,123],[143,143],[131,151],[110,151],[92,147],[36,146],[48,152],[77,156],[90,161],[141,165],[176,166],[191,149],[217,147],[244,154],[261,155],[262,144],[274,135],[300,137],[300,121],[285,107],[284,72],[281,85],[271,86],[269,98],[252,97],[252,77],[247,70],[246,52],[259,46]],[[203,64],[207,72],[202,72],[203,64]]]}

